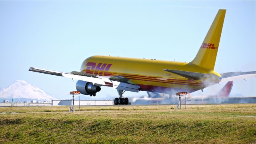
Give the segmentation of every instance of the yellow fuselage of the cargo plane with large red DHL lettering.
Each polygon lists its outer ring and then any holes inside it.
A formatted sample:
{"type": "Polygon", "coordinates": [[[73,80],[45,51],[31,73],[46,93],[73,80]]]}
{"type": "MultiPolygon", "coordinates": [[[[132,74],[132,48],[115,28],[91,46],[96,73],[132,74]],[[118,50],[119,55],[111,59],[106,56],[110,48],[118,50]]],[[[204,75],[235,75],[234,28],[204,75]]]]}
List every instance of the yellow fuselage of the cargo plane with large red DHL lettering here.
{"type": "Polygon", "coordinates": [[[220,82],[217,72],[188,62],[172,62],[154,59],[122,58],[114,56],[91,56],[84,60],[81,72],[97,76],[122,76],[140,86],[139,90],[167,94],[194,92],[220,82]],[[213,74],[211,80],[188,80],[164,69],[213,74]]]}

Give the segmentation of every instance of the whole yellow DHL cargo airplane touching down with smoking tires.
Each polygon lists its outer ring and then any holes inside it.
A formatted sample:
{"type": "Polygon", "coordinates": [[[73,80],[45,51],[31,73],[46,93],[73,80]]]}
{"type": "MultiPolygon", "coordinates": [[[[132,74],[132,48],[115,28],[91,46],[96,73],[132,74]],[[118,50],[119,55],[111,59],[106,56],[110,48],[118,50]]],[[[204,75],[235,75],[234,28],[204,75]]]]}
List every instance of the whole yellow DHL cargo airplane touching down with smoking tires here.
{"type": "MultiPolygon", "coordinates": [[[[120,96],[115,98],[114,104],[128,104],[128,98],[122,96],[125,91],[176,94],[202,90],[223,78],[214,71],[214,65],[225,13],[226,10],[218,11],[196,57],[191,62],[91,56],[84,60],[80,72],[67,73],[39,68],[29,70],[76,79],[76,89],[85,95],[95,96],[96,92],[100,91],[100,86],[113,87],[120,96]]],[[[230,77],[228,74],[227,77],[230,77]]]]}

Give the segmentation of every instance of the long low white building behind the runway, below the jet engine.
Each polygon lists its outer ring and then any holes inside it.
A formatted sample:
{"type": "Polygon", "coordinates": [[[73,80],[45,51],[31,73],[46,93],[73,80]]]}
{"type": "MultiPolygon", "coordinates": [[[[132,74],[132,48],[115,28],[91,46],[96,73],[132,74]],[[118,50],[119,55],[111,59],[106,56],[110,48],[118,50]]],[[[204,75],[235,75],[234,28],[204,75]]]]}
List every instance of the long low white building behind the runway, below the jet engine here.
{"type": "MultiPolygon", "coordinates": [[[[78,106],[79,101],[74,100],[74,105],[78,106]]],[[[80,106],[114,105],[113,100],[80,100],[80,106]]],[[[52,106],[72,106],[72,100],[52,100],[52,106]]]]}

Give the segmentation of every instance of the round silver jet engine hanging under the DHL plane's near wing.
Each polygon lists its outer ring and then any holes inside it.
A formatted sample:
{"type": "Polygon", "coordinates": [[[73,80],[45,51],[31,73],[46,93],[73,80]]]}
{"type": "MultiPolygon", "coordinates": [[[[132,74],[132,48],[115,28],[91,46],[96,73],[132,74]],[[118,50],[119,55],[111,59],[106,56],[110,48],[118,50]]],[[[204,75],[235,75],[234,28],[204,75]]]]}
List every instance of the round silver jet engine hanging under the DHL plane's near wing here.
{"type": "Polygon", "coordinates": [[[96,96],[96,92],[99,92],[100,89],[100,86],[92,84],[92,82],[82,80],[78,80],[76,82],[76,90],[80,91],[81,94],[96,96]]]}

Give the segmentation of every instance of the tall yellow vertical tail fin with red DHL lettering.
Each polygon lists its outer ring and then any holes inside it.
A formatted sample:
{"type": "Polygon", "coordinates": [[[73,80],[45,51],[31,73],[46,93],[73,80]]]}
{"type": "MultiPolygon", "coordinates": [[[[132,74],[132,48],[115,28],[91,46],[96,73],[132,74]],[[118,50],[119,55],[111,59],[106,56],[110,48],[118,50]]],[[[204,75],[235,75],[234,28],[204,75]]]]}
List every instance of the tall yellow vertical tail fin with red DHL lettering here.
{"type": "Polygon", "coordinates": [[[226,10],[219,10],[192,64],[214,70],[226,10]]]}

